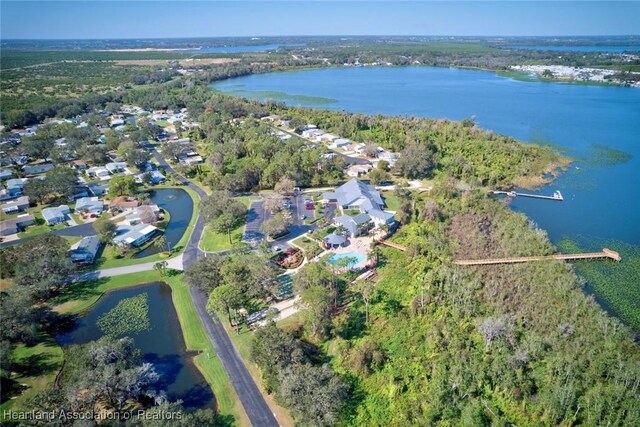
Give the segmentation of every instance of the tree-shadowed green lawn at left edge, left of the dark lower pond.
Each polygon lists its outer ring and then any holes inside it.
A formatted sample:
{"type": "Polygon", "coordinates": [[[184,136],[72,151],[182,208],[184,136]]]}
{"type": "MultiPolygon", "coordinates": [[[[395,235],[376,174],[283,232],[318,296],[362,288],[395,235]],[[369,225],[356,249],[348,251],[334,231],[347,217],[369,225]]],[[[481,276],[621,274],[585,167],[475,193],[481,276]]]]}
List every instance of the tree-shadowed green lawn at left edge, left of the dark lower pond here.
{"type": "Polygon", "coordinates": [[[64,359],[62,348],[47,334],[42,334],[36,345],[28,347],[20,344],[12,353],[16,363],[14,371],[17,373],[12,379],[17,385],[24,384],[26,387],[15,399],[0,405],[0,419],[5,418],[5,410],[25,408],[26,403],[38,392],[53,384],[64,359]]]}

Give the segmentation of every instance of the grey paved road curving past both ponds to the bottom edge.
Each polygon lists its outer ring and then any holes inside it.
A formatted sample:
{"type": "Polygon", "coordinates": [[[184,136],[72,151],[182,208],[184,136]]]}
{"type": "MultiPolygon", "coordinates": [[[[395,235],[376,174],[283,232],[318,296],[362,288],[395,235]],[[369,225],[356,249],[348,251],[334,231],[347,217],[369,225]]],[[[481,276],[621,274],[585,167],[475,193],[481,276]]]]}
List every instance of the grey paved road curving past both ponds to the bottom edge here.
{"type": "MultiPolygon", "coordinates": [[[[207,193],[205,193],[202,188],[176,173],[176,171],[164,160],[155,148],[149,148],[153,157],[155,157],[163,169],[178,176],[180,181],[198,193],[200,198],[206,196],[207,193]]],[[[203,231],[204,220],[200,215],[198,215],[196,225],[182,254],[183,268],[186,269],[196,259],[205,256],[205,254],[198,248],[198,242],[200,241],[203,231]]],[[[207,313],[207,295],[194,288],[189,288],[189,292],[191,293],[191,299],[194,307],[196,308],[196,312],[200,317],[200,321],[202,321],[204,329],[209,336],[209,340],[211,340],[213,348],[216,350],[218,357],[222,361],[222,364],[227,371],[227,375],[229,375],[231,384],[233,384],[233,388],[236,390],[251,424],[260,427],[278,426],[279,424],[276,421],[276,418],[271,412],[271,409],[269,409],[267,402],[265,402],[264,397],[262,396],[262,393],[260,393],[256,383],[253,381],[253,378],[249,374],[249,371],[238,354],[238,351],[233,346],[224,326],[217,318],[213,319],[209,313],[207,313]]]]}

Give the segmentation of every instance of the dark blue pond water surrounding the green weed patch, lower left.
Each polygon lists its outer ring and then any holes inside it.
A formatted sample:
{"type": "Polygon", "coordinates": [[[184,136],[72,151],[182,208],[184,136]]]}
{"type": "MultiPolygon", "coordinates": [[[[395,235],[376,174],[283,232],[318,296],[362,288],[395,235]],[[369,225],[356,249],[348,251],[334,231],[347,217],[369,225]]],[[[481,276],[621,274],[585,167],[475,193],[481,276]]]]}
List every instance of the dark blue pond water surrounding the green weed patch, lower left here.
{"type": "Polygon", "coordinates": [[[154,364],[161,374],[158,387],[171,401],[181,399],[188,408],[213,408],[214,397],[206,380],[187,353],[182,329],[171,300],[171,288],[164,283],[150,283],[106,293],[86,314],[78,318],[76,327],[58,335],[61,345],[84,344],[102,337],[96,321],[124,298],[148,295],[150,330],[131,335],[146,362],[154,364]]]}

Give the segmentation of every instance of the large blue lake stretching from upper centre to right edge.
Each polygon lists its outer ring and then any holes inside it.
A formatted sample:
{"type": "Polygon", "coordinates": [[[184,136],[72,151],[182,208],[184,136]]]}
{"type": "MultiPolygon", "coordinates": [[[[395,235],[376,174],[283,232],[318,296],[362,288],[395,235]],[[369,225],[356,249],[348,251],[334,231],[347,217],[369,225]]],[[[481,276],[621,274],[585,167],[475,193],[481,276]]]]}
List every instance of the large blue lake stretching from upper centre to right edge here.
{"type": "MultiPolygon", "coordinates": [[[[332,110],[475,117],[483,128],[553,144],[575,162],[538,193],[557,189],[565,201],[516,198],[512,208],[525,212],[556,243],[566,238],[583,250],[607,245],[626,248],[623,256],[640,254],[640,89],[520,81],[488,71],[430,67],[327,68],[252,75],[211,86],[332,110]]],[[[600,296],[617,298],[616,305],[627,304],[627,311],[634,311],[640,299],[640,272],[632,265],[637,260],[620,265],[625,284],[596,284],[600,296]],[[612,286],[618,288],[611,291],[612,286]],[[621,290],[629,294],[621,296],[621,290]]],[[[633,322],[640,325],[640,317],[633,322]]]]}

